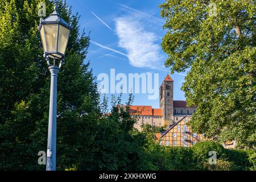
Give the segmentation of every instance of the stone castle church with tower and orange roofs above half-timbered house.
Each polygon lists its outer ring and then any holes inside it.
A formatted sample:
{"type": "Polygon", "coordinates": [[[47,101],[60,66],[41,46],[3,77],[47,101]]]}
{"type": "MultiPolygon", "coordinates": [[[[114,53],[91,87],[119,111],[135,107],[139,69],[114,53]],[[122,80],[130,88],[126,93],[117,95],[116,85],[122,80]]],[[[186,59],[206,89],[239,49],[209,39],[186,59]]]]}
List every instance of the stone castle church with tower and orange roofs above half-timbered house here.
{"type": "Polygon", "coordinates": [[[186,101],[174,101],[174,80],[170,75],[167,75],[160,85],[159,106],[160,109],[154,109],[152,106],[131,106],[130,113],[139,115],[134,127],[139,131],[142,124],[169,128],[185,115],[191,117],[196,111],[196,107],[188,107],[186,101]]]}

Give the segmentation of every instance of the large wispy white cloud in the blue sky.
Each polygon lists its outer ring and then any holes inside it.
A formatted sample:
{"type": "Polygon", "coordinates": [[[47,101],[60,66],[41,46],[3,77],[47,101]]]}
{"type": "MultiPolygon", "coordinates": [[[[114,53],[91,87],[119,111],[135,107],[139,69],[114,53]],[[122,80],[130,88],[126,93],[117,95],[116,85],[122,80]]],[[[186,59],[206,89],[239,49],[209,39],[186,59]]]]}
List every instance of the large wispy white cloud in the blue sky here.
{"type": "Polygon", "coordinates": [[[129,16],[117,18],[115,31],[119,47],[126,49],[131,65],[141,68],[162,67],[164,56],[160,53],[160,45],[155,43],[158,36],[144,30],[142,23],[129,16]]]}

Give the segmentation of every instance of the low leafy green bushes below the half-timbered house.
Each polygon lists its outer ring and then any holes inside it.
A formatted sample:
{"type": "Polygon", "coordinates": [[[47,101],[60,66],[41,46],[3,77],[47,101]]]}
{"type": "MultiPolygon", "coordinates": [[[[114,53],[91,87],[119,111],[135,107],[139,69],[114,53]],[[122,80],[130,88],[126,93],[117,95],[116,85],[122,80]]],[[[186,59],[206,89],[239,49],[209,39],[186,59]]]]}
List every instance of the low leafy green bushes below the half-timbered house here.
{"type": "Polygon", "coordinates": [[[147,170],[255,170],[255,150],[225,149],[213,140],[200,142],[192,147],[160,146],[150,144],[146,148],[147,170]],[[150,149],[149,149],[150,148],[150,149]],[[209,164],[209,151],[217,154],[217,164],[209,164]]]}

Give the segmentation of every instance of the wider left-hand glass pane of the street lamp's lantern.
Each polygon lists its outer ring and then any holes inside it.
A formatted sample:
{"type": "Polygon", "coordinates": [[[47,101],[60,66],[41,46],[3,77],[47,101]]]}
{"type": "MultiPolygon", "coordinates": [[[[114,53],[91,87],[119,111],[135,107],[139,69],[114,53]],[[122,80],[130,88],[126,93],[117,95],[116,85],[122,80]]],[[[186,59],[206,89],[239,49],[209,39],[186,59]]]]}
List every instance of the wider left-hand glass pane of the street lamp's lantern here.
{"type": "Polygon", "coordinates": [[[57,24],[44,24],[47,52],[57,51],[57,24]]]}

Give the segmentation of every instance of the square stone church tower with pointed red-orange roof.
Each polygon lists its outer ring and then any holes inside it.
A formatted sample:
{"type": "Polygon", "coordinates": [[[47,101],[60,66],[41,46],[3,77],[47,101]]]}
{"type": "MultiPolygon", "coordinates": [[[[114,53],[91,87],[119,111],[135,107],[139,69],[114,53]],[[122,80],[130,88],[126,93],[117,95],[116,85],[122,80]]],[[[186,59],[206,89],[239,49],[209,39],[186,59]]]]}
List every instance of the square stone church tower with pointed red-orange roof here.
{"type": "Polygon", "coordinates": [[[174,123],[174,80],[167,75],[159,88],[160,109],[162,109],[164,125],[174,123]]]}

